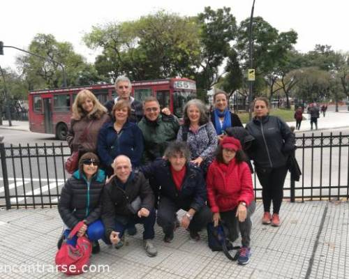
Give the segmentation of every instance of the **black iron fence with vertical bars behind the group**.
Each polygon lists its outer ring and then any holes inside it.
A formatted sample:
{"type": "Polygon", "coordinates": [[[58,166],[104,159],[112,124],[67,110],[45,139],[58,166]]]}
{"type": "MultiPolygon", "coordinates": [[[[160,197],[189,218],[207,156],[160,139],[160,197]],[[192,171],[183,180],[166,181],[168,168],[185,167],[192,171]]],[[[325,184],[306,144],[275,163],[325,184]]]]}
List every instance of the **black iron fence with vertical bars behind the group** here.
{"type": "MultiPolygon", "coordinates": [[[[349,199],[349,135],[296,137],[295,156],[302,169],[299,181],[288,176],[284,198],[349,199]]],[[[70,176],[64,162],[70,156],[66,144],[5,146],[0,143],[0,207],[57,205],[61,188],[70,176]]],[[[262,187],[254,176],[255,197],[262,187]]]]}

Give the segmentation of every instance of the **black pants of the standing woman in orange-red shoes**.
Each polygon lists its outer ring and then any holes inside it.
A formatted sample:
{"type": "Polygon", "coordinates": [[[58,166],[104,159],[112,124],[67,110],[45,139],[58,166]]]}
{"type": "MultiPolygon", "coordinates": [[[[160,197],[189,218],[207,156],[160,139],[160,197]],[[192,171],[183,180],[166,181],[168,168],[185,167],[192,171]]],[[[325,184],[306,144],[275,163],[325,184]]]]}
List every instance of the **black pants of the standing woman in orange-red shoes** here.
{"type": "Polygon", "coordinates": [[[256,168],[260,184],[262,185],[262,199],[265,212],[270,212],[273,202],[273,212],[279,214],[283,200],[283,183],[285,183],[288,167],[256,168]]]}

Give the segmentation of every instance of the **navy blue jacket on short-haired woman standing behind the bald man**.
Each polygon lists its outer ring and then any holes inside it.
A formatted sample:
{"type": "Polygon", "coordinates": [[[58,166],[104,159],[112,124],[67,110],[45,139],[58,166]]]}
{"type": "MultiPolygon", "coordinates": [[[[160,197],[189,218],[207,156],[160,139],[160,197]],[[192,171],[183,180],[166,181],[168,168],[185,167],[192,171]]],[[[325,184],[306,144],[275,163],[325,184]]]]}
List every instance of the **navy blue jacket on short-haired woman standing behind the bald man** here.
{"type": "Polygon", "coordinates": [[[114,122],[112,121],[106,123],[99,131],[97,142],[98,156],[101,158],[102,163],[110,169],[114,158],[119,155],[128,156],[133,167],[138,167],[143,149],[142,131],[135,123],[127,121],[119,135],[114,130],[114,122]]]}

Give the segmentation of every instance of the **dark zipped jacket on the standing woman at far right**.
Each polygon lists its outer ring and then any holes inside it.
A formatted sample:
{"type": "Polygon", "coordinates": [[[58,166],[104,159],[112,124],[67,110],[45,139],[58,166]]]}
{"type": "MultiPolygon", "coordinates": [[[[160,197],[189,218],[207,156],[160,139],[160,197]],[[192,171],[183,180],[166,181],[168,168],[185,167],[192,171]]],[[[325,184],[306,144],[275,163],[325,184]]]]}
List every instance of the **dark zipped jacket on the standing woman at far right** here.
{"type": "Polygon", "coordinates": [[[253,118],[246,124],[246,129],[255,140],[248,156],[255,167],[282,167],[287,164],[290,152],[295,149],[294,135],[290,127],[276,116],[253,118]]]}

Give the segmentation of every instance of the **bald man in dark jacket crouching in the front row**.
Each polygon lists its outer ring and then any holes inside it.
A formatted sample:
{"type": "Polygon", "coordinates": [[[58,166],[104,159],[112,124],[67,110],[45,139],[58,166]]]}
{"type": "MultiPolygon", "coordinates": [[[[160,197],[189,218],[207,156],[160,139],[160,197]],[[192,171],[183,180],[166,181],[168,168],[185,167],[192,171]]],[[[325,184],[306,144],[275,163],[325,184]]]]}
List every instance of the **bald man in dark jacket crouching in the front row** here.
{"type": "Polygon", "coordinates": [[[133,171],[131,160],[124,155],[114,160],[114,176],[103,191],[102,220],[105,236],[118,244],[126,227],[141,223],[144,226],[143,245],[149,257],[158,253],[154,239],[154,194],[144,175],[133,171]]]}

